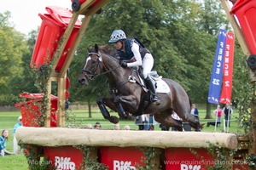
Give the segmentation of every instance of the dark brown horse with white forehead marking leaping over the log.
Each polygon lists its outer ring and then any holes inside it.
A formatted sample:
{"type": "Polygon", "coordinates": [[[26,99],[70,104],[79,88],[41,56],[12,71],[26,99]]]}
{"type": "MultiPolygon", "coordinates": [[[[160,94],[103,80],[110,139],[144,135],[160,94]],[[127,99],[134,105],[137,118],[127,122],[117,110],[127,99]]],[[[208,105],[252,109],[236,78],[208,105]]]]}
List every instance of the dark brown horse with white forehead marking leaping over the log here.
{"type": "Polygon", "coordinates": [[[139,116],[142,114],[153,114],[156,122],[167,127],[176,127],[183,131],[183,122],[189,122],[195,131],[201,131],[199,120],[193,116],[191,102],[183,87],[172,79],[162,78],[169,88],[167,93],[158,93],[160,105],[153,105],[148,100],[148,92],[140,82],[139,74],[135,68],[124,68],[119,65],[116,50],[108,45],[88,49],[89,54],[84,68],[79,75],[79,82],[88,85],[89,82],[102,74],[108,77],[109,97],[97,99],[97,104],[102,116],[109,122],[117,123],[117,116],[110,116],[108,106],[112,111],[118,112],[119,117],[127,118],[127,115],[139,116]],[[146,101],[146,102],[145,102],[146,101]],[[147,103],[149,101],[149,103],[147,103]],[[172,114],[176,112],[182,121],[174,119],[172,114]]]}

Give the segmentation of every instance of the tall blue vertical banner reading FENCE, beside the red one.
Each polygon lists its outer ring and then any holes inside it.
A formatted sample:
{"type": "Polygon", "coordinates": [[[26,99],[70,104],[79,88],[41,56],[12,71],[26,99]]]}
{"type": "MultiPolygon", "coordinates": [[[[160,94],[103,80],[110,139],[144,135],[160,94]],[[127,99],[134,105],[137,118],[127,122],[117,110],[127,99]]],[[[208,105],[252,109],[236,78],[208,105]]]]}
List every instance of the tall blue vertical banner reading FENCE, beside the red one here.
{"type": "Polygon", "coordinates": [[[222,88],[222,77],[223,77],[223,64],[224,54],[226,47],[227,31],[218,31],[218,42],[215,51],[215,59],[212,68],[212,77],[208,92],[208,102],[212,104],[218,104],[222,88]]]}

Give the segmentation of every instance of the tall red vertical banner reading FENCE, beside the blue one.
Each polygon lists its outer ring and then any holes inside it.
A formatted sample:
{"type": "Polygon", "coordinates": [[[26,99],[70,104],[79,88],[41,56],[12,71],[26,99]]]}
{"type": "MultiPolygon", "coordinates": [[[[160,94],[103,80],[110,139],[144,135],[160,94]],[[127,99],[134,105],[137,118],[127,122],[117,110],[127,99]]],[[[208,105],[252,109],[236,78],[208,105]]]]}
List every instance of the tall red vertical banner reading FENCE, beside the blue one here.
{"type": "Polygon", "coordinates": [[[234,63],[234,43],[235,43],[234,33],[228,32],[225,57],[224,57],[223,87],[222,87],[222,92],[219,99],[219,102],[222,104],[231,103],[232,75],[233,75],[233,63],[234,63]]]}

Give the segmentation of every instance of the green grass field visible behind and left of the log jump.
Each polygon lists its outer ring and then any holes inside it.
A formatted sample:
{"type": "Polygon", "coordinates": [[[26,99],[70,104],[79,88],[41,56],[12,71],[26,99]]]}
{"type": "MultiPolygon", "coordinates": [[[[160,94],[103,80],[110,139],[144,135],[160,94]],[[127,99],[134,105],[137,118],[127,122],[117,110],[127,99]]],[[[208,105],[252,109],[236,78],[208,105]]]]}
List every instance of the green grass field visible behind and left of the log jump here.
{"type": "MultiPolygon", "coordinates": [[[[209,121],[215,121],[214,116],[212,119],[204,119],[206,116],[205,110],[199,110],[201,123],[207,123],[209,121]]],[[[100,122],[102,124],[103,129],[113,129],[113,124],[104,120],[101,112],[98,109],[92,110],[92,117],[89,117],[88,111],[70,111],[70,121],[66,122],[66,126],[74,126],[79,125],[79,127],[85,127],[86,124],[90,123],[94,125],[96,122],[100,122]]],[[[111,112],[111,115],[116,115],[116,113],[111,112]]],[[[7,142],[7,150],[13,150],[13,127],[17,122],[17,118],[20,116],[20,112],[0,112],[0,132],[2,133],[3,129],[9,130],[9,141],[7,142]]],[[[230,123],[230,133],[241,133],[241,127],[237,126],[236,118],[238,113],[234,113],[231,115],[231,123],[230,123]]],[[[137,130],[137,125],[135,125],[133,120],[120,120],[119,125],[121,129],[124,129],[125,125],[130,125],[131,129],[137,130]]],[[[202,129],[203,132],[214,132],[213,126],[204,127],[202,129]]],[[[221,127],[217,127],[217,132],[223,132],[223,124],[221,127]]],[[[154,130],[160,130],[159,125],[154,126],[154,130]]],[[[25,170],[28,168],[28,164],[26,162],[26,157],[23,154],[15,155],[15,156],[4,156],[0,157],[0,169],[1,170],[25,170]]]]}

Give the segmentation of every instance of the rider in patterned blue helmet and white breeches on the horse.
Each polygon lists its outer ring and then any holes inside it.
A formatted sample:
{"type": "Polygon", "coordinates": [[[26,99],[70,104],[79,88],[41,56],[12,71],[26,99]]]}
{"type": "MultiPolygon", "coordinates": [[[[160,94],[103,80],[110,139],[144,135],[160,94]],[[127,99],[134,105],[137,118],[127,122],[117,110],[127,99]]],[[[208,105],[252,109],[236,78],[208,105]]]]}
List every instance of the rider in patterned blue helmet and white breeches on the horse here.
{"type": "Polygon", "coordinates": [[[154,82],[150,76],[150,71],[154,65],[154,58],[143,44],[137,39],[126,38],[125,32],[122,30],[113,31],[110,40],[113,46],[117,49],[120,57],[120,65],[123,67],[143,66],[143,77],[148,85],[148,88],[153,96],[152,103],[160,105],[160,99],[156,95],[154,82]]]}

